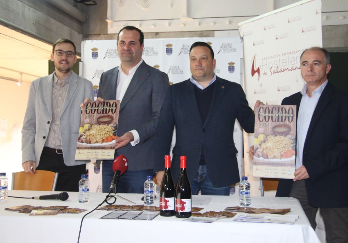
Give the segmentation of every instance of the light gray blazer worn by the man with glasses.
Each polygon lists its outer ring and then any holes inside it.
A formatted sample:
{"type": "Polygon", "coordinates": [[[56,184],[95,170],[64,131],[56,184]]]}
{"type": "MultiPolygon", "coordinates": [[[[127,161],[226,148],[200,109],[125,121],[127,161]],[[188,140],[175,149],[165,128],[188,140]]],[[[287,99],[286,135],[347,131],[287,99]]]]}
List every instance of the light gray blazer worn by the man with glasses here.
{"type": "MultiPolygon", "coordinates": [[[[22,163],[28,160],[39,165],[50,123],[52,121],[53,74],[35,79],[30,86],[29,99],[22,128],[22,163]]],[[[80,104],[84,99],[94,100],[93,84],[72,73],[66,91],[60,119],[64,163],[67,166],[86,164],[75,160],[76,144],[81,121],[80,104]]]]}

